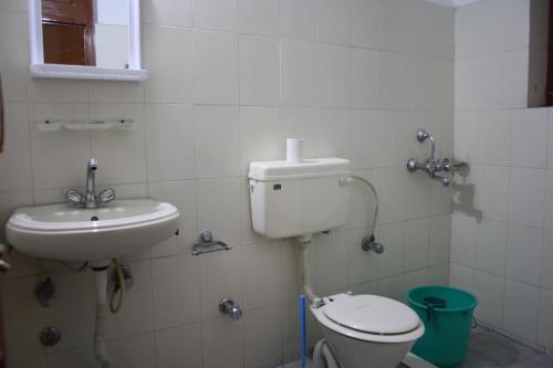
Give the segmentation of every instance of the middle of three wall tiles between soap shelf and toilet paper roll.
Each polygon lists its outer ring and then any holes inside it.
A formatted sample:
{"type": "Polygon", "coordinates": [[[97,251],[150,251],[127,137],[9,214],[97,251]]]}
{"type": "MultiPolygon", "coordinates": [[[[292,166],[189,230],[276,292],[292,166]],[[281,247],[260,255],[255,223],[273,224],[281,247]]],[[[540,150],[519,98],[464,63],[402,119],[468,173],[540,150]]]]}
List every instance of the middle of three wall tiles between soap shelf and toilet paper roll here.
{"type": "Polygon", "coordinates": [[[238,106],[196,105],[195,135],[198,178],[239,175],[240,118],[238,106]]]}

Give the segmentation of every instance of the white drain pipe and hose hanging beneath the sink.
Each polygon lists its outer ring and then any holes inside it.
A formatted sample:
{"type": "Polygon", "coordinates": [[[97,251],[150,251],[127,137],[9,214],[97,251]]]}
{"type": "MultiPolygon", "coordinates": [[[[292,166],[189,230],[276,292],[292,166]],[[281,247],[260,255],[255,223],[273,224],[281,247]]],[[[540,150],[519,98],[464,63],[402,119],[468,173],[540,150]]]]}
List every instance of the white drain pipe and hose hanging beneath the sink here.
{"type": "Polygon", "coordinates": [[[112,359],[105,349],[105,335],[107,329],[107,313],[117,313],[123,304],[123,296],[125,293],[125,282],[123,280],[123,271],[116,259],[112,259],[113,266],[119,278],[119,297],[117,303],[114,304],[114,295],[117,291],[112,291],[109,295],[109,306],[107,303],[107,270],[109,263],[106,265],[92,266],[94,271],[94,278],[96,281],[96,323],[94,326],[94,357],[102,365],[102,368],[112,368],[112,359]]]}

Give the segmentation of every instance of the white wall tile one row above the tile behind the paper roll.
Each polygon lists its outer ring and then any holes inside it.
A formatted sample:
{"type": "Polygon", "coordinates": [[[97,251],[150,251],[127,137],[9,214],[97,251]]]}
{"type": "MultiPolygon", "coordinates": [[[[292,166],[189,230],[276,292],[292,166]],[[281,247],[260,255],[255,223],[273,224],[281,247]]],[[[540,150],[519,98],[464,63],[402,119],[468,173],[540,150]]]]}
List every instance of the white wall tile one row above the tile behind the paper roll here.
{"type": "Polygon", "coordinates": [[[315,104],[316,48],[298,40],[281,41],[281,102],[283,105],[315,104]]]}

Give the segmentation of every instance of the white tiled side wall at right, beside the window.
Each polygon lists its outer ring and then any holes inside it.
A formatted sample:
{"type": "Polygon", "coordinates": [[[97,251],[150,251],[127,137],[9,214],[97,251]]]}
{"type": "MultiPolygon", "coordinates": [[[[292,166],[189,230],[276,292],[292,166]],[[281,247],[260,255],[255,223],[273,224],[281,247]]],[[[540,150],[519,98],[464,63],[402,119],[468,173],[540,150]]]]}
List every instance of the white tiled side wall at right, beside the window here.
{"type": "Polygon", "coordinates": [[[453,212],[451,284],[478,296],[482,324],[552,349],[553,111],[524,108],[520,94],[529,4],[480,1],[456,12],[455,148],[471,164],[472,209],[483,219],[453,212]]]}

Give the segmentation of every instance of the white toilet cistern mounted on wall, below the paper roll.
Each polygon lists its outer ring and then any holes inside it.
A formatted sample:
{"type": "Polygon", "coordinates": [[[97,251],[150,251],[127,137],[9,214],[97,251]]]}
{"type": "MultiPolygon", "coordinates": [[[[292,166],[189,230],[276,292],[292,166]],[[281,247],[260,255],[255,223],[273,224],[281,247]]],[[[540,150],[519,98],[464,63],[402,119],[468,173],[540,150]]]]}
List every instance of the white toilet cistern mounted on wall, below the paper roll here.
{"type": "Polygon", "coordinates": [[[347,221],[351,162],[314,158],[257,161],[248,174],[253,230],[270,239],[311,235],[347,221]]]}

